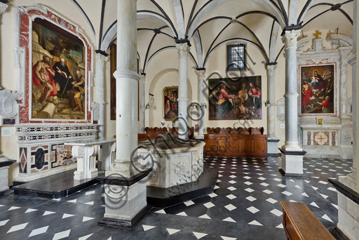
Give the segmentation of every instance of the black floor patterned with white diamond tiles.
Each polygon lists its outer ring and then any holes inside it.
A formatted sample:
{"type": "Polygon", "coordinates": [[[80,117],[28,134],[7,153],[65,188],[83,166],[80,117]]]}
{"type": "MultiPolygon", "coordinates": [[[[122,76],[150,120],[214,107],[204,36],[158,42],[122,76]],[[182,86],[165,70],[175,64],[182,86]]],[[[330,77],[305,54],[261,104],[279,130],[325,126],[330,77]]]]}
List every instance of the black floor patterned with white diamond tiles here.
{"type": "Polygon", "coordinates": [[[0,239],[286,239],[280,201],[303,202],[325,227],[337,225],[337,192],[327,182],[351,160],[304,159],[305,178],[284,178],[278,159],[205,159],[219,171],[215,191],[152,209],[134,229],[100,227],[100,184],[64,199],[0,196],[0,239]]]}

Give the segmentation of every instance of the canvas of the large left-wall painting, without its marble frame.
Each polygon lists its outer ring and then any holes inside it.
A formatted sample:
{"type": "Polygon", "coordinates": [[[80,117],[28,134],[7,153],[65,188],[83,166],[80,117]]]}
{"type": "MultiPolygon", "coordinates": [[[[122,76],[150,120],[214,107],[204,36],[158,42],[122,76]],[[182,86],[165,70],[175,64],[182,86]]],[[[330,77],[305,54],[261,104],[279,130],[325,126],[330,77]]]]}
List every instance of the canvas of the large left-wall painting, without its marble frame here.
{"type": "Polygon", "coordinates": [[[86,57],[78,36],[32,22],[32,119],[85,119],[86,57]]]}

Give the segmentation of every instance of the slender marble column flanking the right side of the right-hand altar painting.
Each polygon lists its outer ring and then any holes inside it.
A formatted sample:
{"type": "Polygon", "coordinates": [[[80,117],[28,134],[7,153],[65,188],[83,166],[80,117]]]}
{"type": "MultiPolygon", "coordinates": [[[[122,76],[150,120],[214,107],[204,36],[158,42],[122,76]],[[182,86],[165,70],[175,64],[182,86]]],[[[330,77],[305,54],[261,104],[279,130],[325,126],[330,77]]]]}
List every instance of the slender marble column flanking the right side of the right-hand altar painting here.
{"type": "Polygon", "coordinates": [[[340,147],[341,158],[353,158],[353,146],[351,145],[351,117],[348,116],[348,55],[350,51],[340,51],[339,69],[340,69],[340,115],[341,131],[340,131],[340,147]]]}

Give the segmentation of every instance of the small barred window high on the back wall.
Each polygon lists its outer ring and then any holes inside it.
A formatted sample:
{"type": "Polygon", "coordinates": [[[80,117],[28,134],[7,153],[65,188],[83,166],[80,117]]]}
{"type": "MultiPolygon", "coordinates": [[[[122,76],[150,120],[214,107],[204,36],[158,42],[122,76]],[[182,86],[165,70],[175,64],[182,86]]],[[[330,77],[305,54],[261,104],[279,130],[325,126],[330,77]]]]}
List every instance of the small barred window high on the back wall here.
{"type": "Polygon", "coordinates": [[[245,70],[245,44],[227,45],[227,66],[229,71],[245,70]]]}

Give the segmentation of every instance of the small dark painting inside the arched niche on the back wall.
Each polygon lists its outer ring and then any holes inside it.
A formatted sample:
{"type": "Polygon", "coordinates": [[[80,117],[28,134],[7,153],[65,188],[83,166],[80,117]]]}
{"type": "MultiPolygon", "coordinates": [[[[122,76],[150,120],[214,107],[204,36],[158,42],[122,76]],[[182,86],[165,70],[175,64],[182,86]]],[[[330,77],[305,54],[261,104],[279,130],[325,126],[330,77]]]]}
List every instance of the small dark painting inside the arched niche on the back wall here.
{"type": "Polygon", "coordinates": [[[172,121],[178,116],[178,86],[163,89],[163,118],[172,121]]]}

